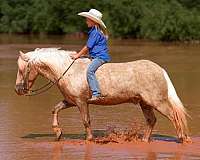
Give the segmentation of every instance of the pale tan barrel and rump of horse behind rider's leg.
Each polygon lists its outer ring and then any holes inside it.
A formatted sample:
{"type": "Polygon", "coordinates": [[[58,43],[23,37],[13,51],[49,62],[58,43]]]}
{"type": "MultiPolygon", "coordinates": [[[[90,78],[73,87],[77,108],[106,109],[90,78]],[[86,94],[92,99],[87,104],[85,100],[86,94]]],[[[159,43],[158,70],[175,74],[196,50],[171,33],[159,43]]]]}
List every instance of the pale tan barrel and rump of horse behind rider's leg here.
{"type": "Polygon", "coordinates": [[[107,63],[96,75],[102,94],[119,102],[140,96],[150,103],[167,96],[162,68],[149,60],[107,63]]]}

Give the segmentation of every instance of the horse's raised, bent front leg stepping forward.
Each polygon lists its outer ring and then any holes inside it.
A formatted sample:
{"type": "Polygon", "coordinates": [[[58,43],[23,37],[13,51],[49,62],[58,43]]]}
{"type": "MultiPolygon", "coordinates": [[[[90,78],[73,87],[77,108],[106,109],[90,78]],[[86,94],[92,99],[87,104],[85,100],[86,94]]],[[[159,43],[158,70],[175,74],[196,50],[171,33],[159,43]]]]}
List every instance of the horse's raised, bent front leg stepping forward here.
{"type": "Polygon", "coordinates": [[[57,141],[59,141],[62,136],[62,129],[59,127],[59,122],[58,122],[58,112],[66,108],[70,108],[72,106],[73,105],[69,104],[66,100],[63,100],[59,102],[52,110],[52,114],[53,114],[52,127],[53,127],[53,131],[56,133],[57,141]]]}

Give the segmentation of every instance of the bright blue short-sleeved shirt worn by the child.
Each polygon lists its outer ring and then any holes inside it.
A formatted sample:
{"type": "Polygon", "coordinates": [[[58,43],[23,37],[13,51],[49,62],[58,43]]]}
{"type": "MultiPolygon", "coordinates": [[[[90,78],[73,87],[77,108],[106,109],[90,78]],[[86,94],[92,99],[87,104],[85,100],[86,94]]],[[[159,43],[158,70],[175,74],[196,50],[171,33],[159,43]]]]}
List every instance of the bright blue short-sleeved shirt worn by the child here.
{"type": "Polygon", "coordinates": [[[97,29],[97,27],[92,27],[88,32],[87,47],[89,49],[89,55],[93,58],[100,58],[106,62],[111,60],[108,54],[107,39],[97,29]]]}

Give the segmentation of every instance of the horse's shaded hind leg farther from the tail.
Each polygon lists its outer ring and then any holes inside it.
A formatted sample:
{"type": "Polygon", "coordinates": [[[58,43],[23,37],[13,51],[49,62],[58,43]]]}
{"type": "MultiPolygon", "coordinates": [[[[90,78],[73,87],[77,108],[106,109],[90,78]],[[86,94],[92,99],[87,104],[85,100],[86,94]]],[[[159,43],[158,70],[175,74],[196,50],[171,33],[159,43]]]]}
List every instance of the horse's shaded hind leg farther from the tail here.
{"type": "Polygon", "coordinates": [[[156,123],[156,117],[151,106],[146,105],[144,102],[141,102],[140,106],[142,108],[147,123],[147,129],[144,133],[142,141],[149,142],[153,127],[156,123]]]}

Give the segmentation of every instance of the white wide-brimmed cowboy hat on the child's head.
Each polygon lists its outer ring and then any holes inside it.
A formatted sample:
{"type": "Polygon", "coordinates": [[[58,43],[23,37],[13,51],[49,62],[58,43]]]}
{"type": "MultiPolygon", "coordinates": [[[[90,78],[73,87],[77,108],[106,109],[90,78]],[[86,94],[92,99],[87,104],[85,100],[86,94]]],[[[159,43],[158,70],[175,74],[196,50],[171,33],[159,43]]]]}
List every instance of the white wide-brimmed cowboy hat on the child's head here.
{"type": "Polygon", "coordinates": [[[94,22],[98,23],[104,29],[106,29],[106,25],[101,20],[102,13],[99,12],[98,10],[90,9],[89,12],[81,12],[81,13],[78,13],[78,15],[83,16],[83,17],[87,17],[87,18],[93,20],[94,22]]]}

